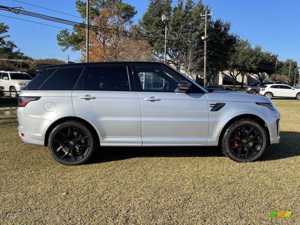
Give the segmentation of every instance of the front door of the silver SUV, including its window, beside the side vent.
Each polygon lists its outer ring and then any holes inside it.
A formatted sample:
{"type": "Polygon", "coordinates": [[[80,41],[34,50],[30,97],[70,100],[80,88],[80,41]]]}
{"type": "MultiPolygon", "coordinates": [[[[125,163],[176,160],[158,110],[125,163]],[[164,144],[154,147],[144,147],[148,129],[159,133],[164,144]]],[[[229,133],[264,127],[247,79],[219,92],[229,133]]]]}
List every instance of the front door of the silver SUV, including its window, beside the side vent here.
{"type": "Polygon", "coordinates": [[[143,146],[207,145],[208,101],[196,88],[178,90],[183,80],[163,66],[134,67],[140,98],[143,146]]]}

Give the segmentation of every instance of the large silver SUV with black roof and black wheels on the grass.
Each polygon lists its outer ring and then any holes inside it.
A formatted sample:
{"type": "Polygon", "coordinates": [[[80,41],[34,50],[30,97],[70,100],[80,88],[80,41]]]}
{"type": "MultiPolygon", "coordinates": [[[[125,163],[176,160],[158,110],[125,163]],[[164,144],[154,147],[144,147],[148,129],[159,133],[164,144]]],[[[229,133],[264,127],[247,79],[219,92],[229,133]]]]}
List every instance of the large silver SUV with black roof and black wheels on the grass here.
{"type": "Polygon", "coordinates": [[[220,146],[232,160],[250,162],[280,140],[280,113],[268,98],[208,93],[163,63],[37,70],[19,95],[19,136],[49,146],[65,165],[84,163],[98,146],[220,146]]]}

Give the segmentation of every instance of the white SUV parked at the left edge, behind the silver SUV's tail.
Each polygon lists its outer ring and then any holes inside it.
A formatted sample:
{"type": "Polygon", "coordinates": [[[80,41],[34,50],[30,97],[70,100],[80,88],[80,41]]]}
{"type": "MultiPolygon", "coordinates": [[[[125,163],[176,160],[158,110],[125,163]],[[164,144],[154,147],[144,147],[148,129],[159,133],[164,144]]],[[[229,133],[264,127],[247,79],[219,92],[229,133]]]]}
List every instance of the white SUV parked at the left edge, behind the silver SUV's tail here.
{"type": "Polygon", "coordinates": [[[0,86],[4,87],[4,95],[17,97],[31,80],[28,73],[0,70],[0,86]]]}

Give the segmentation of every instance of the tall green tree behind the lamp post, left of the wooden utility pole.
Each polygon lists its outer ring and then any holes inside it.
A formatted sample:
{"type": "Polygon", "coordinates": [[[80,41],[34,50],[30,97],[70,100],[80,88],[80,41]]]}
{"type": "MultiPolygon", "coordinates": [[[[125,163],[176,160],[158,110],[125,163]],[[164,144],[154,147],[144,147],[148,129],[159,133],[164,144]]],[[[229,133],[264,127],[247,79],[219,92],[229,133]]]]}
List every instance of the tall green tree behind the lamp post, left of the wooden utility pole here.
{"type": "Polygon", "coordinates": [[[168,18],[167,63],[177,70],[184,70],[188,75],[200,69],[203,58],[203,20],[200,15],[204,11],[202,2],[179,0],[171,7],[170,0],[151,0],[148,10],[139,22],[143,34],[148,38],[155,57],[164,60],[165,24],[161,15],[168,18]],[[192,66],[193,65],[193,66],[192,66]]]}

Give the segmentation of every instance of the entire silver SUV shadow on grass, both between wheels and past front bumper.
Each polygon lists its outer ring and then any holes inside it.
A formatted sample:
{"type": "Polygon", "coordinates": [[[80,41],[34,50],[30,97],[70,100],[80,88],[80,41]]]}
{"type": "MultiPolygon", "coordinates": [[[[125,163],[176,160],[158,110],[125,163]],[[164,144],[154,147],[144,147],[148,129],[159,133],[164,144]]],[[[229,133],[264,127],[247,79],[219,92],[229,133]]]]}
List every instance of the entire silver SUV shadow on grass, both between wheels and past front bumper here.
{"type": "MultiPolygon", "coordinates": [[[[280,143],[268,146],[258,161],[272,161],[300,155],[299,132],[280,132],[280,143]]],[[[101,147],[88,164],[148,157],[225,157],[220,147],[101,147]]]]}

